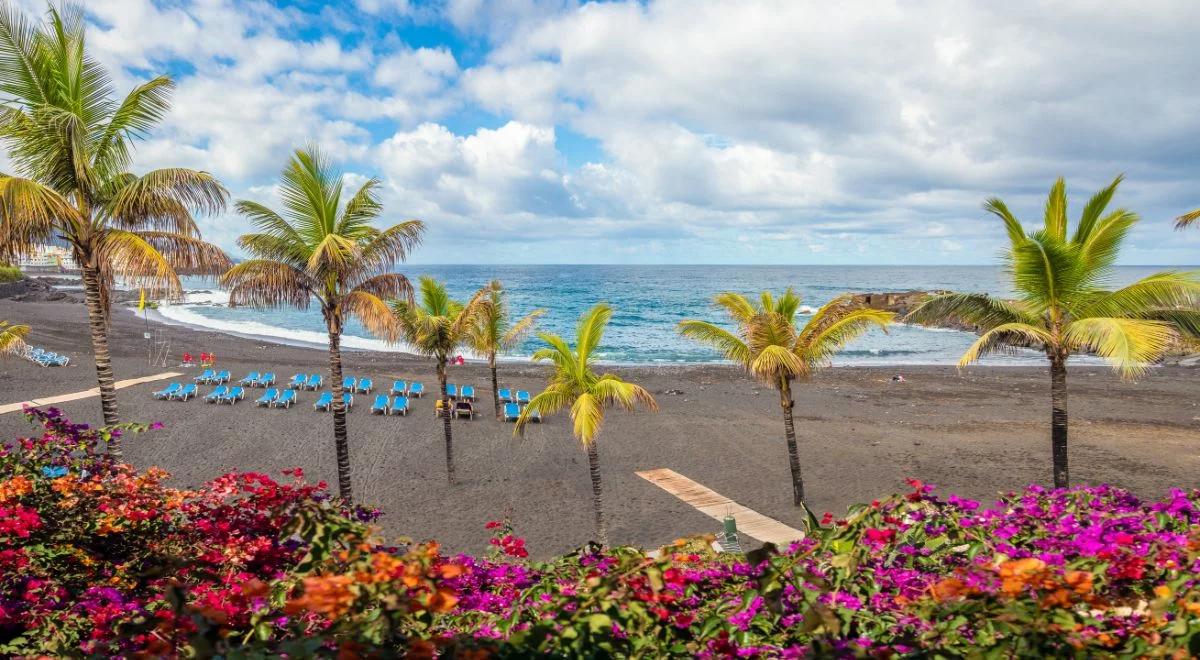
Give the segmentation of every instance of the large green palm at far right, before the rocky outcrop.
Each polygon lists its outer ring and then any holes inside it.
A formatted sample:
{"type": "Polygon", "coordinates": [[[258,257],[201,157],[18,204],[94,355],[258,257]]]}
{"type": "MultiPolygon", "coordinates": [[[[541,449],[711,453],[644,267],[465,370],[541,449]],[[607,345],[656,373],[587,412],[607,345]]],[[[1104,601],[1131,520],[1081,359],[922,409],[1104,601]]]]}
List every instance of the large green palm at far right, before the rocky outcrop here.
{"type": "Polygon", "coordinates": [[[1042,228],[1025,227],[997,198],[984,209],[1004,223],[1004,252],[1015,300],[984,294],[937,295],[913,310],[907,319],[938,323],[959,319],[982,335],[964,353],[966,366],[995,352],[1034,348],[1050,361],[1050,446],[1054,485],[1067,487],[1067,360],[1074,353],[1094,353],[1123,377],[1141,373],[1159,359],[1180,331],[1200,330],[1200,281],[1193,274],[1159,272],[1117,290],[1108,290],[1126,234],[1138,222],[1126,209],[1108,211],[1121,184],[1117,176],[1084,206],[1074,233],[1067,227],[1067,187],[1058,179],[1050,188],[1042,228]]]}

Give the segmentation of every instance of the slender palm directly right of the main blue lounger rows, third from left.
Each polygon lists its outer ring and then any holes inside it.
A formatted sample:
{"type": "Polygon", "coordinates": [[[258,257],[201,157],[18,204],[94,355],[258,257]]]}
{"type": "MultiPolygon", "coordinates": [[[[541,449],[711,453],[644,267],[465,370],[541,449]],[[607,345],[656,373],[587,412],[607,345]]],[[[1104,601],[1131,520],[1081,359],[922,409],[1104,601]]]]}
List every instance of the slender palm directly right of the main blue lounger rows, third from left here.
{"type": "Polygon", "coordinates": [[[450,395],[446,391],[446,364],[450,355],[463,346],[475,325],[484,306],[485,290],[475,295],[466,305],[450,298],[445,284],[437,280],[421,277],[420,305],[413,301],[396,301],[392,313],[403,337],[419,354],[433,358],[438,366],[438,383],[442,385],[442,428],[446,444],[446,480],[454,485],[454,433],[450,420],[454,410],[450,395]]]}

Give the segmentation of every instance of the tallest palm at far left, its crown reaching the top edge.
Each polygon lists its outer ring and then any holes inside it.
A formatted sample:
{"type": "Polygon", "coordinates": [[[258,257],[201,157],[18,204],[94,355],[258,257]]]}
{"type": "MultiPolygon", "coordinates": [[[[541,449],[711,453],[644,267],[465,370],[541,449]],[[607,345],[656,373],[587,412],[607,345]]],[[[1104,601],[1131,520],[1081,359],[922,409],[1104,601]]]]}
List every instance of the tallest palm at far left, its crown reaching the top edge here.
{"type": "MultiPolygon", "coordinates": [[[[0,6],[0,142],[16,175],[0,174],[0,256],[66,241],[83,275],[104,424],[116,424],[108,352],[109,292],[121,280],[151,295],[181,293],[180,270],[229,265],[200,240],[192,211],[224,209],[224,187],[182,168],[130,172],[133,140],[167,113],[174,84],[160,76],[118,102],[84,48],[84,16],[52,7],[46,24],[0,6]]],[[[110,451],[120,455],[120,443],[110,451]]]]}

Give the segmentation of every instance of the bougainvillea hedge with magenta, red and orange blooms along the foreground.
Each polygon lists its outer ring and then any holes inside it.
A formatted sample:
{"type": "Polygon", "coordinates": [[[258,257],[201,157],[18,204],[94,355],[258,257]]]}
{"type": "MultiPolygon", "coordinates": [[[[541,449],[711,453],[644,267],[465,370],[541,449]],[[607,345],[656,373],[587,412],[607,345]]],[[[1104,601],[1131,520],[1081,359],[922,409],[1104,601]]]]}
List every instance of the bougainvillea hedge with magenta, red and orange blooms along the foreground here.
{"type": "MultiPolygon", "coordinates": [[[[0,454],[0,653],[290,656],[1176,656],[1200,653],[1200,492],[1031,486],[827,514],[787,548],[529,559],[386,545],[299,470],[179,490],[28,412],[0,454]]],[[[133,442],[131,439],[131,442],[133,442]]],[[[152,440],[151,440],[152,442],[152,440]]]]}

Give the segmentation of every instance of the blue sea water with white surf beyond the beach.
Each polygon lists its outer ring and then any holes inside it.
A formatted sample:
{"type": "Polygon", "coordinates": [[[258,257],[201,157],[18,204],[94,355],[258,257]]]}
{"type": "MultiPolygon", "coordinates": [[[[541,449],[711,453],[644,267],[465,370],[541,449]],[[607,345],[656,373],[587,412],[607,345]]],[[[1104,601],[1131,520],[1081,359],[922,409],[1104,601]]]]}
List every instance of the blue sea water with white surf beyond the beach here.
{"type": "MultiPolygon", "coordinates": [[[[1123,266],[1112,284],[1166,270],[1158,266],[1123,266]]],[[[515,314],[545,308],[540,330],[571,340],[581,312],[596,302],[613,306],[599,358],[613,364],[714,362],[720,355],[676,332],[685,318],[726,323],[712,306],[715,294],[733,290],[754,294],[792,287],[804,305],[815,308],[841,293],[949,289],[1010,295],[998,266],[731,266],[731,265],[430,265],[406,266],[401,272],[414,282],[430,275],[446,283],[466,300],[480,286],[500,280],[515,314]]],[[[286,342],[324,344],[325,332],[317,308],[230,308],[228,296],[212,282],[188,280],[184,304],[160,308],[168,322],[204,326],[239,335],[271,337],[286,342]]],[[[803,318],[802,318],[803,322],[803,318]]],[[[954,364],[974,335],[895,325],[889,334],[872,331],[841,353],[835,364],[904,365],[954,364]]],[[[538,346],[527,340],[509,359],[528,356],[538,346]]],[[[404,350],[371,337],[352,323],[343,344],[371,350],[404,350]]],[[[994,356],[991,364],[1038,361],[1040,355],[994,356]]]]}

